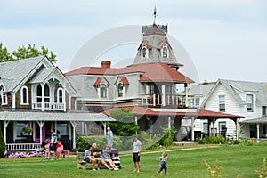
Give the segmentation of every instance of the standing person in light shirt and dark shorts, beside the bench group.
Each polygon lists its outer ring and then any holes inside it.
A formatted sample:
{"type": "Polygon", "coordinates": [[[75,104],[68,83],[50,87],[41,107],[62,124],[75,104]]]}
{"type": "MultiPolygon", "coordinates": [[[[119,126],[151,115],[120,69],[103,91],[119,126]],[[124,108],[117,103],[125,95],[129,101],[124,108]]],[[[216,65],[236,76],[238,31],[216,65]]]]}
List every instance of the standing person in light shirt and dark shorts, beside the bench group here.
{"type": "Polygon", "coordinates": [[[134,161],[134,172],[139,173],[141,170],[141,162],[140,162],[140,155],[141,155],[141,141],[138,140],[137,136],[133,136],[134,139],[134,154],[133,154],[133,161],[134,161]]]}

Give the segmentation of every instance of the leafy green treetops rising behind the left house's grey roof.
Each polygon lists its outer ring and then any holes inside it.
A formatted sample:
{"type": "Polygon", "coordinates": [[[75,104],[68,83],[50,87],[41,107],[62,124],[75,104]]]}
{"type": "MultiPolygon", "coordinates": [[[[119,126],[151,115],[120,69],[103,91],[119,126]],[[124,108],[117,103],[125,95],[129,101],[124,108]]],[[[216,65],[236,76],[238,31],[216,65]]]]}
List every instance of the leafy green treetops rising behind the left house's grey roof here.
{"type": "Polygon", "coordinates": [[[3,43],[0,43],[0,62],[23,60],[27,58],[37,57],[40,55],[46,55],[47,58],[52,62],[57,61],[57,56],[44,46],[41,46],[41,50],[38,50],[35,44],[28,44],[28,46],[26,47],[22,45],[19,46],[16,51],[13,51],[12,54],[10,54],[8,53],[6,47],[3,46],[3,43]]]}

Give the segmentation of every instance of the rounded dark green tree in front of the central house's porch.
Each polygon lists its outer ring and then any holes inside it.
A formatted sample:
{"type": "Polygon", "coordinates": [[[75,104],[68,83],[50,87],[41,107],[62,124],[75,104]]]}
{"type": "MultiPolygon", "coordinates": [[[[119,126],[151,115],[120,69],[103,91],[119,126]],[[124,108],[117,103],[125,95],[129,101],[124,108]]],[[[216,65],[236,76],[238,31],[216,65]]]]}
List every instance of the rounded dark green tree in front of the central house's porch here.
{"type": "Polygon", "coordinates": [[[140,132],[140,128],[135,124],[134,115],[131,110],[115,109],[110,117],[115,118],[117,122],[109,122],[113,134],[117,136],[130,136],[140,132]]]}

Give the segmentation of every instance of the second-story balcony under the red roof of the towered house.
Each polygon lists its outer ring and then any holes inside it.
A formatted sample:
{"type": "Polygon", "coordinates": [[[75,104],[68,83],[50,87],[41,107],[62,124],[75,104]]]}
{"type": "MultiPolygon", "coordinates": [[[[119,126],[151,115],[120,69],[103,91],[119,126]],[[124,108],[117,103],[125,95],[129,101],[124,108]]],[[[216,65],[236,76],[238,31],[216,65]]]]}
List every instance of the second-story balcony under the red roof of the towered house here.
{"type": "Polygon", "coordinates": [[[196,108],[195,97],[177,94],[143,94],[142,106],[172,106],[178,108],[196,108]]]}

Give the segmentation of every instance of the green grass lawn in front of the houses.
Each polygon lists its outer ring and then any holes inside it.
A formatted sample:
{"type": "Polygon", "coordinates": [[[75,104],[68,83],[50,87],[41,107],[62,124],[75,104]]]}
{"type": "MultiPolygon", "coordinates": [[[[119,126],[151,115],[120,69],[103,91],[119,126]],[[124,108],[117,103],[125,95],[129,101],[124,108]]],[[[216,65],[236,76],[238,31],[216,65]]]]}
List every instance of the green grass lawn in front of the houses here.
{"type": "MultiPolygon", "coordinates": [[[[259,169],[266,158],[267,148],[263,145],[255,146],[194,146],[176,147],[168,152],[168,175],[161,177],[208,177],[204,160],[214,168],[214,162],[223,165],[223,177],[258,177],[255,170],[259,169]]],[[[76,158],[63,158],[59,161],[45,161],[44,158],[1,158],[0,177],[158,177],[156,171],[160,162],[156,161],[160,152],[142,152],[142,171],[134,173],[132,156],[120,155],[122,169],[109,171],[101,169],[77,169],[76,158]]],[[[91,167],[91,165],[89,166],[91,167]]]]}

